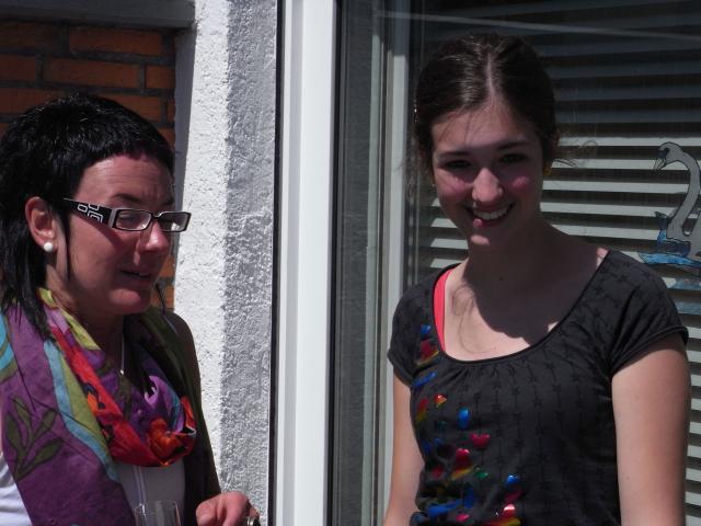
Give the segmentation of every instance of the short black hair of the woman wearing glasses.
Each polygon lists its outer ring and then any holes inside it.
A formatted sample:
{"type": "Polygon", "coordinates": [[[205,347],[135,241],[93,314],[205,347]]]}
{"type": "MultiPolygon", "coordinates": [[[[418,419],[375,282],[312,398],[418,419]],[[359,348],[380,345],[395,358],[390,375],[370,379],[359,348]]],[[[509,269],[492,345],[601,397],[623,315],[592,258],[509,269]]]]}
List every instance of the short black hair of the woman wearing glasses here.
{"type": "MultiPolygon", "coordinates": [[[[82,93],[24,112],[0,139],[0,308],[16,302],[46,335],[37,287],[46,255],[30,233],[24,205],[38,196],[70,239],[64,197],[73,197],[88,168],[114,156],[147,155],[173,173],[173,150],[156,127],[115,101],[82,93]]],[[[68,261],[68,260],[67,260],[68,261]]]]}

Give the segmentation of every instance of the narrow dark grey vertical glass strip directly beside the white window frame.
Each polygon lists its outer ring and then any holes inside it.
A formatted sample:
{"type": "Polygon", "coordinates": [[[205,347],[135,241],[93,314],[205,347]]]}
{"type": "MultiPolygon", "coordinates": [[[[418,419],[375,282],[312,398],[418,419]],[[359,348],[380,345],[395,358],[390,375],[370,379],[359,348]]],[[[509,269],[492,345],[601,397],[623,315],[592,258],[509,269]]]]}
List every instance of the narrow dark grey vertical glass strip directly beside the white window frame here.
{"type": "Polygon", "coordinates": [[[344,2],[336,187],[331,524],[372,525],[377,507],[384,60],[372,2],[344,2]]]}

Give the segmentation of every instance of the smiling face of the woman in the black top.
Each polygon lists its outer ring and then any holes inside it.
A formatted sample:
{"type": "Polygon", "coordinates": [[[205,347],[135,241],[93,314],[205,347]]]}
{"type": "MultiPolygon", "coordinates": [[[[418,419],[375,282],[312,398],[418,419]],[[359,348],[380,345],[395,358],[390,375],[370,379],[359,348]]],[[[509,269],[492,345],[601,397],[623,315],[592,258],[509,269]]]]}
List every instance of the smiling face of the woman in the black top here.
{"type": "Polygon", "coordinates": [[[438,199],[471,249],[504,248],[543,224],[542,149],[530,123],[492,100],[437,119],[432,138],[438,199]]]}

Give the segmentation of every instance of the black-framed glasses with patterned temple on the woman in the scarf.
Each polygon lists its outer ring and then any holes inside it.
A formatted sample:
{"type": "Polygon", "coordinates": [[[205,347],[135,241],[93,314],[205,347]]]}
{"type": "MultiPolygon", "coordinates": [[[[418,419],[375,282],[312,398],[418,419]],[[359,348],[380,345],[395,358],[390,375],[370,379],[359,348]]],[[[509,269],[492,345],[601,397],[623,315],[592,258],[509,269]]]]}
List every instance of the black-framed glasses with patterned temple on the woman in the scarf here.
{"type": "Polygon", "coordinates": [[[182,210],[153,214],[149,210],[138,210],[136,208],[108,208],[92,203],[69,199],[68,197],[64,197],[64,201],[68,203],[71,209],[117,230],[138,232],[149,228],[153,219],[156,219],[163,232],[182,232],[187,228],[191,216],[189,211],[182,210]]]}

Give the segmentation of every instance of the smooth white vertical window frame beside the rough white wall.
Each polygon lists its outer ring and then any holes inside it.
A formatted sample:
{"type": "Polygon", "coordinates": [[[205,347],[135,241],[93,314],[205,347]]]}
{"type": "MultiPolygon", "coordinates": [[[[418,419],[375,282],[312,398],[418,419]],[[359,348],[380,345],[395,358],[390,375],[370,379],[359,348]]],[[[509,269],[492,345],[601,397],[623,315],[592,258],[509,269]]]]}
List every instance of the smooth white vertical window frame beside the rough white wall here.
{"type": "Polygon", "coordinates": [[[330,458],[336,5],[290,0],[283,20],[274,524],[323,526],[330,458]]]}

